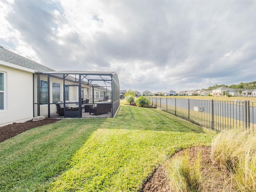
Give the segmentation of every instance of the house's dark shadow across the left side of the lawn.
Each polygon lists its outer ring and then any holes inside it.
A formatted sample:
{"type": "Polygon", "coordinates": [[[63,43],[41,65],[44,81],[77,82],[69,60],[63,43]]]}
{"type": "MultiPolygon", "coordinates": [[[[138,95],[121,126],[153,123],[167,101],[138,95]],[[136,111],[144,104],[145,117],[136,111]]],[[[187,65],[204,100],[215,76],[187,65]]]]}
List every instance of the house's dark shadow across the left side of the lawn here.
{"type": "Polygon", "coordinates": [[[74,154],[106,119],[64,119],[0,143],[0,191],[40,191],[70,168],[74,154]]]}

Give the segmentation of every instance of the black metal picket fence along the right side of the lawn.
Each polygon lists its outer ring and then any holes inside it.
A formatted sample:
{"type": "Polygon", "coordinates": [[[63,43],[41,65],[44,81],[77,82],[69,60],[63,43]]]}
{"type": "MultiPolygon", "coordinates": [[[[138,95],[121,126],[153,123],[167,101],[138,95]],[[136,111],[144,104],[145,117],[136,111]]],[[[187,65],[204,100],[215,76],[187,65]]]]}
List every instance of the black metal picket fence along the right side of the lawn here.
{"type": "Polygon", "coordinates": [[[230,128],[254,132],[256,127],[256,102],[149,98],[152,106],[217,132],[230,128]]]}

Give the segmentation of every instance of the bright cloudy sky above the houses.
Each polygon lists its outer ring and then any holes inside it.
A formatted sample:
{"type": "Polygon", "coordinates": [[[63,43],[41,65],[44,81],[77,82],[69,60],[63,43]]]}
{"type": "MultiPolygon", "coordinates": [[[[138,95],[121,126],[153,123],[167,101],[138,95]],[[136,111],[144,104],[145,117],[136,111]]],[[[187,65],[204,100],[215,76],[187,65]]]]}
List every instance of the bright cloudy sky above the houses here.
{"type": "Polygon", "coordinates": [[[59,70],[116,72],[120,90],[256,81],[256,1],[0,0],[0,46],[59,70]]]}

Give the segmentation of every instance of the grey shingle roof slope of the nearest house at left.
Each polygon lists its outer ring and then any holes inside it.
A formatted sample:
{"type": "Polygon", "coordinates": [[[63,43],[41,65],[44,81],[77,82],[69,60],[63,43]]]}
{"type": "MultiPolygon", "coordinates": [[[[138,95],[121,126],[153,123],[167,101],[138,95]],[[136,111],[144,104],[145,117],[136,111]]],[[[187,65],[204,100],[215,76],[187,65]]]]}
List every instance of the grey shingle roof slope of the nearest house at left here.
{"type": "Polygon", "coordinates": [[[46,66],[43,66],[37,62],[34,62],[28,58],[25,58],[23,56],[20,56],[14,52],[11,52],[9,50],[6,50],[2,46],[0,46],[0,60],[16,64],[18,66],[26,67],[29,69],[36,70],[38,72],[50,72],[54,71],[51,68],[48,68],[46,66]]]}

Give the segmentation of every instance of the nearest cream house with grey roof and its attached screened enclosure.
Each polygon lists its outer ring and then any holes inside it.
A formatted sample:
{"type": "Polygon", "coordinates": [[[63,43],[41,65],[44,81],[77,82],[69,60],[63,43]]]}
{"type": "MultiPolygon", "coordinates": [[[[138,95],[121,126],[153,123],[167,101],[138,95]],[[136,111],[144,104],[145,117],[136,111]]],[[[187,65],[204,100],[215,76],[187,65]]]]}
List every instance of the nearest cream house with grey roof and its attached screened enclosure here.
{"type": "Polygon", "coordinates": [[[90,94],[94,89],[99,90],[99,96],[104,92],[101,96],[110,98],[111,117],[114,117],[120,106],[115,72],[58,72],[0,46],[0,126],[25,122],[35,116],[56,117],[59,102],[63,102],[62,118],[81,118],[83,100],[94,103],[95,95],[90,94]],[[105,92],[94,87],[95,84],[114,91],[105,92]],[[70,110],[71,105],[78,107],[70,110]]]}

